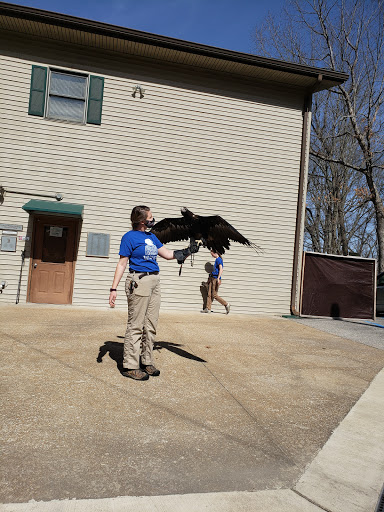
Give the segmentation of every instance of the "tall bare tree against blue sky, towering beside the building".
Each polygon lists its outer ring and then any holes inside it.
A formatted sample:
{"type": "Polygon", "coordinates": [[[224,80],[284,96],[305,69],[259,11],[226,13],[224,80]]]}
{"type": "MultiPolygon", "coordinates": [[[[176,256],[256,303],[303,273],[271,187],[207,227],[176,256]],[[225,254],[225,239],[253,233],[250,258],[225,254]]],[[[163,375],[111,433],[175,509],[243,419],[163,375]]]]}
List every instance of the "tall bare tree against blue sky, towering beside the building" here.
{"type": "MultiPolygon", "coordinates": [[[[326,226],[331,239],[340,238],[343,253],[351,249],[346,246],[348,239],[362,254],[371,254],[376,245],[379,271],[384,271],[383,0],[288,1],[281,19],[270,16],[256,30],[256,51],[349,74],[345,84],[330,94],[321,93],[323,105],[320,111],[315,110],[312,123],[310,154],[314,165],[310,171],[330,180],[323,193],[333,190],[334,208],[328,204],[333,214],[326,226]],[[351,188],[354,185],[355,189],[351,188]],[[347,203],[350,211],[356,208],[358,213],[355,222],[349,224],[345,223],[347,203]],[[373,221],[376,242],[372,247],[373,221]],[[355,238],[350,236],[351,229],[355,238]]],[[[318,187],[319,182],[309,180],[309,203],[312,185],[318,187]]],[[[316,222],[322,216],[325,219],[326,212],[323,208],[319,215],[308,205],[307,234],[312,240],[316,229],[320,230],[316,222]]],[[[328,245],[323,245],[323,250],[328,245]]]]}

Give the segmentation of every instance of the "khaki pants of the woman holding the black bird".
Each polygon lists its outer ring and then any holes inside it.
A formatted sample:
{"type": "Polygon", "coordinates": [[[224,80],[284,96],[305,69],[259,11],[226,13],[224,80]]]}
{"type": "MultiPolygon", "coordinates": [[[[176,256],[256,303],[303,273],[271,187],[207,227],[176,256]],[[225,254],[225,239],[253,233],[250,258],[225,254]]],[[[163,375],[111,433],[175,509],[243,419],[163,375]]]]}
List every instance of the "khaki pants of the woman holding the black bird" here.
{"type": "Polygon", "coordinates": [[[152,350],[156,335],[161,302],[160,275],[139,279],[139,273],[128,274],[125,293],[128,300],[128,323],[124,340],[123,367],[129,370],[142,364],[152,364],[152,350]],[[132,280],[137,288],[130,292],[132,280]]]}

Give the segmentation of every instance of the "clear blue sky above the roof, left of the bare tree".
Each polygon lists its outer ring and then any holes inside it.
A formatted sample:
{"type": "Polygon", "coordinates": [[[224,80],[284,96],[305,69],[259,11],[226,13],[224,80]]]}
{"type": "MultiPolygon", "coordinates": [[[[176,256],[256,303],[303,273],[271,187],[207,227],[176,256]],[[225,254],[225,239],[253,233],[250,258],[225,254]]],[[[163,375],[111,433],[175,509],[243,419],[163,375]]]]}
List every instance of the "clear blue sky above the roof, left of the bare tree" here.
{"type": "Polygon", "coordinates": [[[285,0],[22,0],[10,3],[252,53],[252,34],[285,0]]]}

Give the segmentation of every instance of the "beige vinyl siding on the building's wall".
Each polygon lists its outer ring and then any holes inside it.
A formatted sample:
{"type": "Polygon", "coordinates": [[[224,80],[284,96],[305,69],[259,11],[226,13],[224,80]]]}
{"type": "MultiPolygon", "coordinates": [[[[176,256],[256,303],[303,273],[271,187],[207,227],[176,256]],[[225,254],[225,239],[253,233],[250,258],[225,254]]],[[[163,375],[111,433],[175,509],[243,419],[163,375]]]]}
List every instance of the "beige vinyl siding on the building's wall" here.
{"type": "MultiPolygon", "coordinates": [[[[145,68],[143,59],[122,60],[118,54],[78,55],[53,43],[48,50],[37,40],[28,48],[16,43],[13,51],[23,58],[8,51],[0,61],[1,184],[36,194],[61,192],[64,202],[84,204],[73,304],[107,306],[120,239],[130,229],[130,210],[147,204],[158,220],[180,216],[181,206],[225,217],[264,252],[257,255],[233,244],[223,257],[221,295],[233,312],[289,312],[301,93],[249,80],[229,79],[223,85],[206,72],[149,62],[145,68]],[[48,63],[105,78],[100,126],[28,116],[31,65],[48,63]],[[131,96],[137,83],[146,90],[142,100],[131,96]],[[111,235],[108,259],[85,256],[89,232],[111,235]]],[[[20,234],[25,235],[30,217],[21,206],[32,197],[6,194],[1,222],[23,224],[20,234]]],[[[9,282],[0,303],[15,300],[22,248],[24,242],[18,241],[16,253],[0,253],[0,279],[9,282]]],[[[212,258],[202,249],[193,267],[187,260],[180,277],[175,261],[159,262],[163,309],[201,307],[207,262],[212,258]]],[[[28,270],[27,259],[21,302],[26,300],[28,270]]],[[[121,283],[119,308],[126,308],[123,290],[121,283]]],[[[216,303],[214,310],[223,308],[216,303]]]]}

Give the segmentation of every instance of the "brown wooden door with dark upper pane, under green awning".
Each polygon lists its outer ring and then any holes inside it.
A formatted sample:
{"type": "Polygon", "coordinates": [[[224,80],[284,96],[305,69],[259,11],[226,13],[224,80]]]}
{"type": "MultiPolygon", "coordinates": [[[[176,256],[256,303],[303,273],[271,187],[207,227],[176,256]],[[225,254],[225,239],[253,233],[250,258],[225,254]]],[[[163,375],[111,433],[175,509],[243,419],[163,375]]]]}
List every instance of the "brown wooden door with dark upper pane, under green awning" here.
{"type": "Polygon", "coordinates": [[[78,221],[36,217],[31,258],[29,301],[71,304],[78,221]]]}

